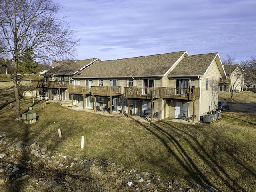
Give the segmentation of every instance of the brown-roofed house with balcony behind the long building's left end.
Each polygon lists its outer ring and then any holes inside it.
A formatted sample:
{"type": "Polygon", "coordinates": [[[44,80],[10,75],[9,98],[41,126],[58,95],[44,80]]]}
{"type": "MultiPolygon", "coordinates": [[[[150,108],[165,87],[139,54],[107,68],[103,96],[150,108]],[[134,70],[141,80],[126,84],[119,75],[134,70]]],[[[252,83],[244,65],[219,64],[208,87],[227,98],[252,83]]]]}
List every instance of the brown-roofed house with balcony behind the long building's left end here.
{"type": "Polygon", "coordinates": [[[42,76],[44,76],[44,82],[34,82],[34,86],[44,88],[44,96],[50,99],[69,101],[71,97],[70,94],[68,94],[68,86],[76,85],[72,77],[97,61],[99,61],[98,58],[52,62],[52,66],[55,67],[42,74],[42,76]]]}

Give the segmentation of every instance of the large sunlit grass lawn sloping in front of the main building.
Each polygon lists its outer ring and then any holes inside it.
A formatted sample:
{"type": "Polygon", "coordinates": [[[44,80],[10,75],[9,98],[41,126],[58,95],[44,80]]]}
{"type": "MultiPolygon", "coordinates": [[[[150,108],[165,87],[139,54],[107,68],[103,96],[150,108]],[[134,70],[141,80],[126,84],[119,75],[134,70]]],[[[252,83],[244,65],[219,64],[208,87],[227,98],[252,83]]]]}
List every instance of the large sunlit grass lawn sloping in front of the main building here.
{"type": "Polygon", "coordinates": [[[75,111],[58,103],[21,100],[21,113],[32,106],[34,124],[14,122],[11,90],[0,93],[0,130],[24,142],[80,159],[98,157],[151,172],[183,186],[206,184],[223,191],[256,191],[256,114],[222,112],[211,124],[152,124],[128,118],[75,111]],[[62,137],[58,137],[58,128],[62,137]],[[84,149],[80,149],[84,136],[84,149]]]}

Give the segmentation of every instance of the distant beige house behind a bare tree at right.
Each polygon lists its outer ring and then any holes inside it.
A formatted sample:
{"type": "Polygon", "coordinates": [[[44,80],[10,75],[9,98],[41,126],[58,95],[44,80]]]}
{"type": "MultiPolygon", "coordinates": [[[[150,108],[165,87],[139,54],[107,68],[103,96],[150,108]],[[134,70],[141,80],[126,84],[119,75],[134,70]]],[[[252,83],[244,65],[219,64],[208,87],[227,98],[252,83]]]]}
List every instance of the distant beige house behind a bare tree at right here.
{"type": "Polygon", "coordinates": [[[244,70],[239,64],[223,65],[227,78],[220,81],[220,91],[239,92],[244,89],[244,70]]]}

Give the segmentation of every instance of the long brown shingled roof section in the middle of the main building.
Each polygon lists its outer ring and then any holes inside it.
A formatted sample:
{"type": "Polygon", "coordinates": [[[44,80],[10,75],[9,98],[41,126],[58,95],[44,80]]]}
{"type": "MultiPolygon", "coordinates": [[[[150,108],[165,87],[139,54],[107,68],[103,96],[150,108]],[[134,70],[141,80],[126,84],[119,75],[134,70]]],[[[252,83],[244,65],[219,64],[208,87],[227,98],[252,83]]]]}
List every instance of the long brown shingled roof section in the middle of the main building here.
{"type": "Polygon", "coordinates": [[[96,62],[74,78],[164,76],[186,51],[96,62]]]}

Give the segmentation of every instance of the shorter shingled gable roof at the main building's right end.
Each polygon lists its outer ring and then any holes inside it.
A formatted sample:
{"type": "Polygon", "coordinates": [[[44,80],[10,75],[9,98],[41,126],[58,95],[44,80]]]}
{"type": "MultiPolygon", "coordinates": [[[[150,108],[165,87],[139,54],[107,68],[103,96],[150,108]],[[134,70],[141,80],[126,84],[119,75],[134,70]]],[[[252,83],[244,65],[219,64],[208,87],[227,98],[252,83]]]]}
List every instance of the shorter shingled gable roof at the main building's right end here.
{"type": "Polygon", "coordinates": [[[204,76],[210,64],[216,59],[218,68],[223,77],[226,77],[218,53],[198,54],[185,56],[179,64],[168,74],[168,77],[204,76]]]}

